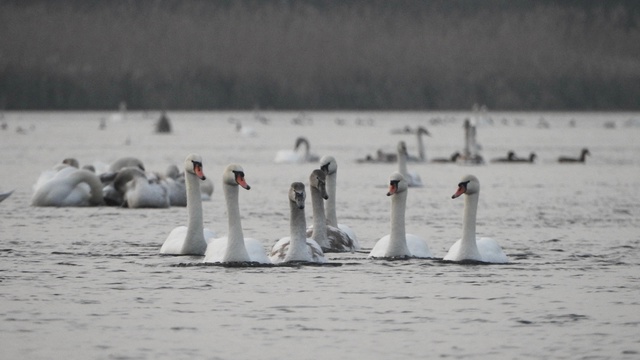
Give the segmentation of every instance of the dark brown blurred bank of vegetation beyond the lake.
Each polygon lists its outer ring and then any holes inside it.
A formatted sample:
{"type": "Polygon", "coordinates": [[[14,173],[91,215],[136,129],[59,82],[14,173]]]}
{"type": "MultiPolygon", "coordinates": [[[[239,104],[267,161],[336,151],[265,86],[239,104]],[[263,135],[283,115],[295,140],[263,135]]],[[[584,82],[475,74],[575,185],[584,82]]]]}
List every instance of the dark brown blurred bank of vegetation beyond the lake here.
{"type": "Polygon", "coordinates": [[[4,109],[640,109],[637,1],[0,1],[4,109]]]}

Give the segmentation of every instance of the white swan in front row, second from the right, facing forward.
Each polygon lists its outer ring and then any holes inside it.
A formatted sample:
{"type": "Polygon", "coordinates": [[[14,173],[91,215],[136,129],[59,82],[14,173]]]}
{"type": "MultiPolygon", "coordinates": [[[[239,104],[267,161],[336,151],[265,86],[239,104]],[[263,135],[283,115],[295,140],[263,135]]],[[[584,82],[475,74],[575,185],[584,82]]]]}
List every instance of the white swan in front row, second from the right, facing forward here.
{"type": "Polygon", "coordinates": [[[417,257],[432,258],[427,241],[405,232],[405,209],[409,186],[402,174],[395,172],[389,178],[391,198],[391,233],[383,236],[369,253],[370,258],[417,257]]]}

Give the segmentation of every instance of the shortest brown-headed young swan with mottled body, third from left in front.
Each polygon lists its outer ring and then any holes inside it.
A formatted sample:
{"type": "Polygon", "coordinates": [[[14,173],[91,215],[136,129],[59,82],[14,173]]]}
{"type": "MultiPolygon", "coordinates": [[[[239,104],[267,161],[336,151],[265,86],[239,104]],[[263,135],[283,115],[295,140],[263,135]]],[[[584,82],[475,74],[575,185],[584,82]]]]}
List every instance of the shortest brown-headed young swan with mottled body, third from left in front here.
{"type": "Polygon", "coordinates": [[[290,261],[327,262],[320,245],[315,240],[307,238],[307,223],[304,215],[305,197],[304,184],[292,183],[289,188],[290,236],[281,238],[271,248],[269,258],[274,264],[290,261]]]}

